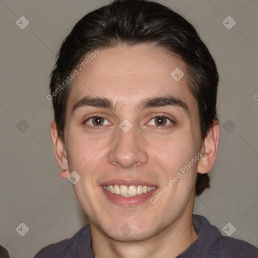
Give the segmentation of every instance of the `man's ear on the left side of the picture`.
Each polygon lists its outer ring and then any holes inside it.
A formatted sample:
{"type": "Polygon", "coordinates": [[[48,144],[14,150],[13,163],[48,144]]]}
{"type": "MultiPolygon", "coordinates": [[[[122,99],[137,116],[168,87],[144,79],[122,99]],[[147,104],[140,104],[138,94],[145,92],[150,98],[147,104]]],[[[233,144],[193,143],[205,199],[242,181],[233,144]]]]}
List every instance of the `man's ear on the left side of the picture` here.
{"type": "Polygon", "coordinates": [[[69,175],[67,152],[64,146],[64,142],[58,135],[57,125],[55,121],[53,121],[51,124],[51,139],[54,145],[56,163],[61,168],[60,177],[62,179],[67,179],[69,175]]]}

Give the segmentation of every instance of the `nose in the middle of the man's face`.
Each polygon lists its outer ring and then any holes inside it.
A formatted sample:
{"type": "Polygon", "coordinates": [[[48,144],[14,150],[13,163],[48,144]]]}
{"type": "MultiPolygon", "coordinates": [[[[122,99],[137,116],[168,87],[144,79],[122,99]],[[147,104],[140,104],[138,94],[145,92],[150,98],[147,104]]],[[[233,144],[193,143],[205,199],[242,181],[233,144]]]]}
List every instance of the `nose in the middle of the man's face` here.
{"type": "Polygon", "coordinates": [[[127,133],[120,128],[117,128],[117,131],[117,136],[110,143],[109,163],[123,168],[138,167],[147,163],[147,147],[136,136],[134,127],[127,133]]]}

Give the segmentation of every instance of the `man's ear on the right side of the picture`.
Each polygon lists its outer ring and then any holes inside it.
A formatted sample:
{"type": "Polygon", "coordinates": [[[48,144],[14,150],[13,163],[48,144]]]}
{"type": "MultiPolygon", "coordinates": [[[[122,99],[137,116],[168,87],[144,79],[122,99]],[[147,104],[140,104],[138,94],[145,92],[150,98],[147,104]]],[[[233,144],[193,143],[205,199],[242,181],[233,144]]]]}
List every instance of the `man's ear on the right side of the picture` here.
{"type": "Polygon", "coordinates": [[[218,153],[219,139],[220,138],[220,126],[219,121],[214,120],[212,127],[204,139],[202,144],[203,156],[199,160],[197,171],[200,174],[208,173],[212,170],[218,153]]]}

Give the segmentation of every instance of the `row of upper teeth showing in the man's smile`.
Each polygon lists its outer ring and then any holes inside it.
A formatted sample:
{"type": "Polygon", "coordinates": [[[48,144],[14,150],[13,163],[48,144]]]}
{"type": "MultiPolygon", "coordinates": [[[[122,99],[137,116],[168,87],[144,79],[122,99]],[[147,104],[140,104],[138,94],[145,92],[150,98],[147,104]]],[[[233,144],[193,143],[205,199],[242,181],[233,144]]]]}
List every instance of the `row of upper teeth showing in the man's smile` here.
{"type": "Polygon", "coordinates": [[[155,186],[147,186],[147,185],[104,185],[104,189],[115,193],[116,195],[120,195],[123,197],[132,197],[136,195],[142,195],[142,193],[146,193],[148,191],[152,191],[156,189],[155,186]]]}

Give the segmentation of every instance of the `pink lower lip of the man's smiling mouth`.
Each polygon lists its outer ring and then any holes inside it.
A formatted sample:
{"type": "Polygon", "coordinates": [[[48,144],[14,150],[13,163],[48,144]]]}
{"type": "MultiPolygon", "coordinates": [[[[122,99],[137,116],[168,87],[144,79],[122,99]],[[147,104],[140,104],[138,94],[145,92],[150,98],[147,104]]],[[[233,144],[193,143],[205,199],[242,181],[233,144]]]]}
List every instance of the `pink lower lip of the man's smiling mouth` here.
{"type": "Polygon", "coordinates": [[[122,205],[122,206],[137,206],[140,204],[145,203],[146,201],[150,200],[151,196],[157,190],[148,191],[146,193],[142,193],[142,195],[134,196],[134,197],[122,197],[118,196],[115,193],[111,193],[104,189],[104,186],[100,186],[104,191],[107,199],[115,204],[122,205]]]}

